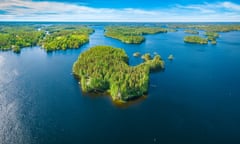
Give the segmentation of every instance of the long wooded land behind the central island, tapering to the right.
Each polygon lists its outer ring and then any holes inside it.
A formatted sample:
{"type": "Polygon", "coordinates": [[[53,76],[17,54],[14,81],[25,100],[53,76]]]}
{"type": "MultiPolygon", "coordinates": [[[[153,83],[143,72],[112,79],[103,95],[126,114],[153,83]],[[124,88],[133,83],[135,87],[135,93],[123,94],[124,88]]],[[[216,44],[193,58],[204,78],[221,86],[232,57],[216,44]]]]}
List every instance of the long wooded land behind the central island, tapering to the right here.
{"type": "Polygon", "coordinates": [[[144,26],[107,26],[105,27],[105,36],[118,39],[128,44],[139,44],[145,39],[144,34],[165,33],[166,29],[160,27],[144,26]]]}

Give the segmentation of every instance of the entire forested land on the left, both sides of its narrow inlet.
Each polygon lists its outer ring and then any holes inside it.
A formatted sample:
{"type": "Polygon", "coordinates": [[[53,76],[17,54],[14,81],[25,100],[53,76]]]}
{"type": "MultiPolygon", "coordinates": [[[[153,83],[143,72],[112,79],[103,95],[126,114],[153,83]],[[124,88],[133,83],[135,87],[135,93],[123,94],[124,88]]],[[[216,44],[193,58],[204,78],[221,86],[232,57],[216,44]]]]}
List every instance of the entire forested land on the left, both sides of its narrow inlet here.
{"type": "Polygon", "coordinates": [[[0,50],[20,53],[21,48],[37,45],[46,51],[79,48],[93,31],[81,25],[1,25],[0,50]]]}

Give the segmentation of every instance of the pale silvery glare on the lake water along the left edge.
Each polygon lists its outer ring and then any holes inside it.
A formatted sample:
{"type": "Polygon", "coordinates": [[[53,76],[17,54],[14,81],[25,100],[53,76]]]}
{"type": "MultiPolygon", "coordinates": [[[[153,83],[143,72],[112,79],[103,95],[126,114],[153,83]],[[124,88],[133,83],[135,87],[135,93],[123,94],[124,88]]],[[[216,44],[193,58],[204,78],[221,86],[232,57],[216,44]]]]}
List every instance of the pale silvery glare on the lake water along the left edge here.
{"type": "Polygon", "coordinates": [[[15,68],[6,67],[7,60],[0,56],[0,143],[29,143],[26,127],[21,122],[22,102],[16,98],[20,94],[15,82],[19,72],[15,68]]]}

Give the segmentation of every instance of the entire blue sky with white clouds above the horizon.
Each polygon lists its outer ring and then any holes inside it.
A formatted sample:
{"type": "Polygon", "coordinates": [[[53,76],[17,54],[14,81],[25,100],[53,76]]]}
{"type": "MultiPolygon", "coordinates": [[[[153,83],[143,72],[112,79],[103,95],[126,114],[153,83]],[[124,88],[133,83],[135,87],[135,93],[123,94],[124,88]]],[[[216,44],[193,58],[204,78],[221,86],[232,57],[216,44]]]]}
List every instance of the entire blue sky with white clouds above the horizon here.
{"type": "Polygon", "coordinates": [[[0,21],[240,22],[240,1],[0,0],[0,21]]]}

